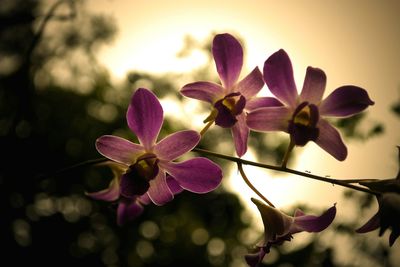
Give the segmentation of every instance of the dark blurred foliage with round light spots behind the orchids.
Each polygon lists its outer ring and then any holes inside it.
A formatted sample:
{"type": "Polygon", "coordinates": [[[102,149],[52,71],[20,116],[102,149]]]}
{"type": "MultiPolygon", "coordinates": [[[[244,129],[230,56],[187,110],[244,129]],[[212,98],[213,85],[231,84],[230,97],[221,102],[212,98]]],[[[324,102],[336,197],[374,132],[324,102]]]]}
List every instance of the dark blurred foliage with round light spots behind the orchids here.
{"type": "MultiPolygon", "coordinates": [[[[146,206],[140,218],[117,227],[115,205],[84,194],[108,185],[107,170],[80,167],[54,175],[98,158],[94,143],[103,134],[136,140],[125,112],[137,87],[182,104],[186,100],[178,89],[185,83],[218,82],[210,35],[205,41],[187,36],[177,55],[194,50],[207,55],[207,64],[193,73],[135,71],[113,84],[96,52],[116,33],[114,20],[91,13],[83,0],[0,2],[0,235],[7,248],[3,254],[12,257],[3,260],[15,266],[244,266],[243,255],[261,233],[250,228],[238,197],[223,188],[205,195],[184,192],[163,207],[146,206]]],[[[206,108],[202,105],[199,112],[207,116],[206,108]]],[[[363,116],[337,125],[357,139],[383,132],[376,124],[364,134],[358,129],[363,116]]],[[[188,123],[167,117],[160,135],[188,123]]],[[[229,131],[214,127],[200,147],[233,155],[230,140],[229,131]]],[[[278,163],[287,140],[252,133],[250,146],[259,151],[260,161],[278,163]]],[[[215,161],[227,172],[226,161],[215,161]]],[[[289,253],[279,247],[265,266],[336,266],[334,248],[318,244],[310,240],[289,253]]]]}

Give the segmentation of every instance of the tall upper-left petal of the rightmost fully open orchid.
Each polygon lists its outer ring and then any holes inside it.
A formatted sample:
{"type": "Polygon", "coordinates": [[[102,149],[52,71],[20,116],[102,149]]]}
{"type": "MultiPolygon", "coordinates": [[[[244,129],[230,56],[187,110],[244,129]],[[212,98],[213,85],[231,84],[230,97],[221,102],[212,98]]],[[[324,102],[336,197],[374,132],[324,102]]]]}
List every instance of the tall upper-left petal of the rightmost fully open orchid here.
{"type": "Polygon", "coordinates": [[[295,107],[298,93],[288,54],[283,49],[272,54],[264,63],[263,72],[269,90],[283,103],[295,107]]]}

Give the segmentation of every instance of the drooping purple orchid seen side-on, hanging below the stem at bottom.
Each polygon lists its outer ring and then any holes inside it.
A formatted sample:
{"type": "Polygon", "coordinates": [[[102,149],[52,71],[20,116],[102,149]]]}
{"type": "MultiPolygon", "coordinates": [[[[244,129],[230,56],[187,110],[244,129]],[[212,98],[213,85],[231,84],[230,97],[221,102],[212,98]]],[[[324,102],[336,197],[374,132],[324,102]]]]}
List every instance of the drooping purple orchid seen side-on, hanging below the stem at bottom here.
{"type": "Polygon", "coordinates": [[[264,224],[264,239],[257,245],[257,251],[245,256],[251,267],[258,266],[264,256],[269,253],[271,246],[282,245],[290,241],[293,234],[299,232],[321,232],[333,221],[336,215],[336,206],[332,206],[320,216],[306,215],[296,210],[294,217],[288,216],[276,208],[265,205],[262,201],[252,198],[251,201],[260,211],[264,224]]]}

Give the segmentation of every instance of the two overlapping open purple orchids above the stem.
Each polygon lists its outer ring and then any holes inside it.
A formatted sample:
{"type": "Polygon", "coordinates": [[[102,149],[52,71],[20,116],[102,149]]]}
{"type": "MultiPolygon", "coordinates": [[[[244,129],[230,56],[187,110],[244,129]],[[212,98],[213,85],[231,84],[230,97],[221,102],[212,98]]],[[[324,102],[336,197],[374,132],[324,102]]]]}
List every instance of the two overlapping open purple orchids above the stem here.
{"type": "Polygon", "coordinates": [[[304,146],[314,141],[336,159],[346,159],[347,149],[339,132],[324,117],[351,116],[373,105],[364,89],[342,86],[322,100],[326,75],[321,69],[308,67],[299,95],[292,63],[284,50],[265,61],[263,74],[256,67],[237,82],[243,65],[240,43],[230,34],[219,34],[214,38],[212,52],[222,85],[195,82],[185,85],[181,93],[212,104],[207,120],[232,129],[239,157],[246,153],[252,129],[287,132],[294,145],[304,146]],[[255,97],[264,81],[276,98],[255,97]]]}

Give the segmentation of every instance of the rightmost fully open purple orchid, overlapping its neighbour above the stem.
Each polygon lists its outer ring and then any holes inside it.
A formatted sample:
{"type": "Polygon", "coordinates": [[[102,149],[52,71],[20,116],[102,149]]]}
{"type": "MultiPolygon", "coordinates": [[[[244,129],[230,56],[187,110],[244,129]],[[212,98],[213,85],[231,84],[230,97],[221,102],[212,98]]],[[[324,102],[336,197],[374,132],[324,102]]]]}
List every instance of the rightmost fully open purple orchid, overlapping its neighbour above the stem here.
{"type": "Polygon", "coordinates": [[[250,129],[284,131],[290,134],[294,145],[304,146],[308,141],[314,141],[336,159],[346,159],[347,148],[339,132],[324,117],[347,117],[373,105],[364,89],[353,85],[342,86],[322,100],[326,75],[321,69],[308,67],[299,95],[292,63],[282,49],[265,61],[264,80],[283,104],[251,112],[247,116],[250,129]]]}

